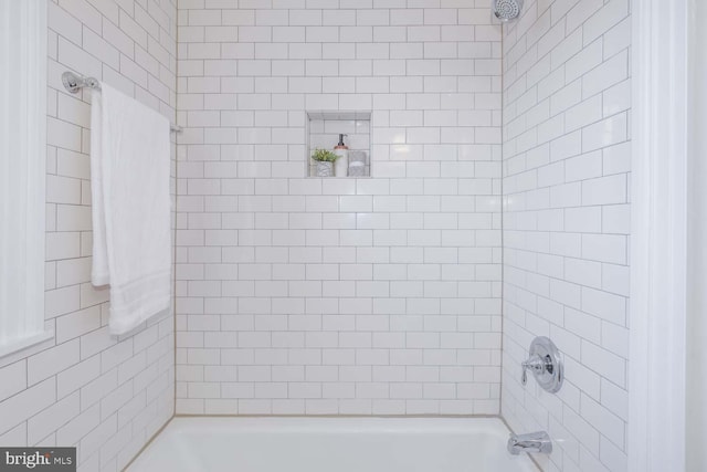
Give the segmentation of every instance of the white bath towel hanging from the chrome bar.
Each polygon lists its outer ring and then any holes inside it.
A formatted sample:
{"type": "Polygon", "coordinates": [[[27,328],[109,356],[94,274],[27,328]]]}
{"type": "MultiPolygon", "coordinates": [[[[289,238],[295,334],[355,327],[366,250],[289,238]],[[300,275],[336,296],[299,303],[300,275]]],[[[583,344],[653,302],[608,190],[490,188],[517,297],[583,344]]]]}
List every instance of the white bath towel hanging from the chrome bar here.
{"type": "Polygon", "coordinates": [[[169,120],[101,84],[92,91],[92,283],[110,284],[109,331],[170,306],[169,120]]]}

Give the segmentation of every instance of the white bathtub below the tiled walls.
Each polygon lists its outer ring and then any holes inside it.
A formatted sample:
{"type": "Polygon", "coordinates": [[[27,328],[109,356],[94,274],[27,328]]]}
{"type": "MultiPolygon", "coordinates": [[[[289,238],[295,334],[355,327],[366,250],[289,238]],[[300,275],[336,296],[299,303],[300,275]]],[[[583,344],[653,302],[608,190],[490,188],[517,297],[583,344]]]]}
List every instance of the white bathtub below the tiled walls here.
{"type": "Polygon", "coordinates": [[[499,419],[175,418],[129,472],[531,472],[499,419]]]}

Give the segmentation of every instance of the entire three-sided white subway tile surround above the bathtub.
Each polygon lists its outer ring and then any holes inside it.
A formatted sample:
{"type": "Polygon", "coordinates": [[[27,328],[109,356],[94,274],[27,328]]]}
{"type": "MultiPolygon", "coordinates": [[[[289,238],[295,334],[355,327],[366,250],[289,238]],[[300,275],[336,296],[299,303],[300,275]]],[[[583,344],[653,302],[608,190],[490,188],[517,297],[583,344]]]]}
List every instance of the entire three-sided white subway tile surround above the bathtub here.
{"type": "Polygon", "coordinates": [[[525,3],[502,41],[489,0],[48,1],[56,336],[0,359],[0,444],[117,472],[175,412],[502,413],[546,471],[625,471],[630,4],[525,3]],[[120,338],[65,70],[184,126],[176,321],[120,338]],[[370,178],[307,177],[337,111],[370,114],[370,178]],[[537,335],[558,396],[520,384],[537,335]]]}

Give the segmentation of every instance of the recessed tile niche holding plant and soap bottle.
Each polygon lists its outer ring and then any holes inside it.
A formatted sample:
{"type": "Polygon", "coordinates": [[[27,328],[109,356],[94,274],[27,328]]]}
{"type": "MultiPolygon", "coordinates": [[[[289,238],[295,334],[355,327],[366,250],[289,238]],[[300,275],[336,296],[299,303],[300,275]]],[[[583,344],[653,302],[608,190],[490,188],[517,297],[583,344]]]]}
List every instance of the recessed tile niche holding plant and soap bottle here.
{"type": "Polygon", "coordinates": [[[307,112],[307,176],[317,177],[317,162],[312,159],[315,149],[334,150],[339,135],[347,135],[344,143],[349,147],[349,165],[362,160],[359,175],[350,178],[367,178],[371,175],[371,112],[307,112]]]}

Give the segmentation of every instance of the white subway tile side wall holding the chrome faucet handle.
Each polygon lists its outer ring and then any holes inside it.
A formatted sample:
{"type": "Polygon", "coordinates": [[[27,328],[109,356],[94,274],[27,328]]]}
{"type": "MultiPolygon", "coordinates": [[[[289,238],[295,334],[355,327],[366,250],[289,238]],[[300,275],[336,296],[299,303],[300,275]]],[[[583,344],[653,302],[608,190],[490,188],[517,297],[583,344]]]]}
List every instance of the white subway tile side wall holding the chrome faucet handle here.
{"type": "Polygon", "coordinates": [[[547,430],[547,471],[625,471],[631,115],[629,0],[527,1],[504,32],[502,412],[547,430]],[[520,361],[566,360],[558,396],[520,361]]]}

